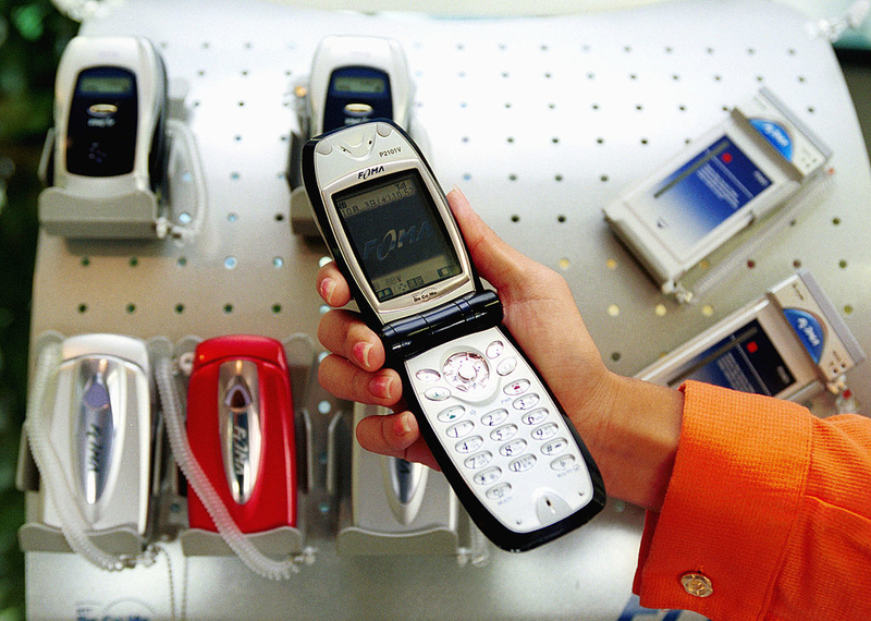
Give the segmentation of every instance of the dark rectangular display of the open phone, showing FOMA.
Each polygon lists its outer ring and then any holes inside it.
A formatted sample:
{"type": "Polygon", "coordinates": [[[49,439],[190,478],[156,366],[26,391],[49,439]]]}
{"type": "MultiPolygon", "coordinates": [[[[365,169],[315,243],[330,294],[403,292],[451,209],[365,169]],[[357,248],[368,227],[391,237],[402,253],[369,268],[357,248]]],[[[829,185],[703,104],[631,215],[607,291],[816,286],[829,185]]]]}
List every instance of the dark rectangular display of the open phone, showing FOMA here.
{"type": "Polygon", "coordinates": [[[340,192],[333,202],[379,301],[461,273],[447,230],[416,170],[340,192]]]}

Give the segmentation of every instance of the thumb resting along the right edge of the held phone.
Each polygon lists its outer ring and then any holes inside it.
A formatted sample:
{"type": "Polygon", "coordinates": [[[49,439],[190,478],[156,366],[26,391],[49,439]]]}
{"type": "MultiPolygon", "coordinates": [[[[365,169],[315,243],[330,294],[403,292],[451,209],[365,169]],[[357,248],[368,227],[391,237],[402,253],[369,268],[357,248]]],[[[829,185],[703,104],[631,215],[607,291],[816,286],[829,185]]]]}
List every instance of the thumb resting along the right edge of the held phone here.
{"type": "Polygon", "coordinates": [[[471,263],[478,273],[498,290],[513,289],[519,284],[524,271],[532,259],[505,243],[471,208],[463,192],[454,186],[447,194],[447,204],[454,214],[471,263]]]}

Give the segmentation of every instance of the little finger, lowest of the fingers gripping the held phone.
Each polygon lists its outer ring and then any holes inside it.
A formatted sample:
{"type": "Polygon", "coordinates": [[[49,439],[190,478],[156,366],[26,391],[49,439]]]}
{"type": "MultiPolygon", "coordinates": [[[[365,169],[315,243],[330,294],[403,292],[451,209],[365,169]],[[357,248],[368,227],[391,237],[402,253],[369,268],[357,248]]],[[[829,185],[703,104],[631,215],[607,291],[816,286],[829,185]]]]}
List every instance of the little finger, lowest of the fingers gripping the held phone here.
{"type": "Polygon", "coordinates": [[[360,446],[376,453],[418,462],[439,470],[410,412],[367,416],[357,425],[357,440],[360,446]]]}

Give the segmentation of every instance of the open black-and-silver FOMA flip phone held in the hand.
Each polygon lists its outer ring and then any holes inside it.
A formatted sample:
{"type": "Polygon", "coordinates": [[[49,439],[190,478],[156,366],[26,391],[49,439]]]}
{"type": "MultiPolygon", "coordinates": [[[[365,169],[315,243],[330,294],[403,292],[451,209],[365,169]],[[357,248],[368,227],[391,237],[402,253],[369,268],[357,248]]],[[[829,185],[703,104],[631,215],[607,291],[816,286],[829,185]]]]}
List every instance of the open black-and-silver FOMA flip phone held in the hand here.
{"type": "Polygon", "coordinates": [[[568,417],[502,326],[434,174],[394,123],[309,141],[303,178],[360,313],[406,404],[481,532],[512,551],[588,522],[601,475],[568,417]]]}

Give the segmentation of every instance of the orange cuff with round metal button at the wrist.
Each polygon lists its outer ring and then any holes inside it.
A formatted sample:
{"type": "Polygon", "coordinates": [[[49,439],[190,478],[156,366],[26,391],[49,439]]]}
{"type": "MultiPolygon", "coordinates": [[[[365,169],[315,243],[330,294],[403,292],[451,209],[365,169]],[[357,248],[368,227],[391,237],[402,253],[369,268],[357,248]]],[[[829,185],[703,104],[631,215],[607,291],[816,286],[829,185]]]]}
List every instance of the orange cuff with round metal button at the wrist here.
{"type": "Polygon", "coordinates": [[[662,510],[648,512],[633,590],[649,608],[756,619],[805,489],[812,415],[688,381],[662,510]]]}

